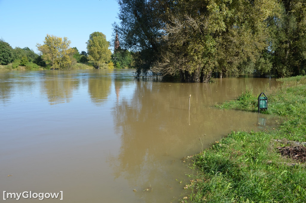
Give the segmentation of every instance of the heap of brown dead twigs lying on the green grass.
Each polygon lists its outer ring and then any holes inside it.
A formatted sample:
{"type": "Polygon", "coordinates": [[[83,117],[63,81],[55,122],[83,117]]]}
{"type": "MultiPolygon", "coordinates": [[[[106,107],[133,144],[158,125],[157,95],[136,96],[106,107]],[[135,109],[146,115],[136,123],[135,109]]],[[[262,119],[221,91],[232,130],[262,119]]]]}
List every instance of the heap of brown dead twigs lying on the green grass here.
{"type": "Polygon", "coordinates": [[[299,162],[306,163],[306,147],[288,146],[288,147],[277,147],[277,149],[284,157],[289,157],[299,162]]]}

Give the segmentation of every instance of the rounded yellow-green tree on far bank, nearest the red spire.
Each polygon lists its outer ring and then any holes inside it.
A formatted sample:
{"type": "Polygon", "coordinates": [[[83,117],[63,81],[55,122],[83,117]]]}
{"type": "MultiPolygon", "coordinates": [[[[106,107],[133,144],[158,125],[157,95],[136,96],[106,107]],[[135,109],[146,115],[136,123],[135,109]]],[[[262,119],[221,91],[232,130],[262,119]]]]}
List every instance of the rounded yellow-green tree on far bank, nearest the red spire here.
{"type": "Polygon", "coordinates": [[[106,36],[100,32],[94,32],[89,35],[86,42],[88,59],[94,61],[95,67],[100,68],[101,64],[108,63],[112,52],[110,51],[110,43],[106,40],[106,36]]]}

